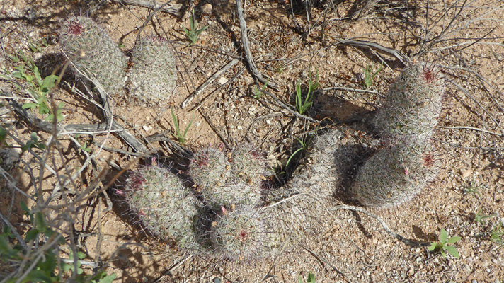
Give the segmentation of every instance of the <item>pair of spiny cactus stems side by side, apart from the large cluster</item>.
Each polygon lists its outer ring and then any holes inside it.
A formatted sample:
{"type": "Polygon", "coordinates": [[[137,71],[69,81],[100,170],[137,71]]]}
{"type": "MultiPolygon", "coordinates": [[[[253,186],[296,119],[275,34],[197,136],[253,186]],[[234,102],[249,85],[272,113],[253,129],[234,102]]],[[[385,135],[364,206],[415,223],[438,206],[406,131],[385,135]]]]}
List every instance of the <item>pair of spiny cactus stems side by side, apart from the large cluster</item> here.
{"type": "Polygon", "coordinates": [[[122,53],[104,28],[84,16],[72,16],[62,23],[59,43],[76,74],[84,72],[96,79],[109,94],[127,86],[132,96],[148,103],[171,98],[177,73],[173,48],[157,35],[142,37],[132,52],[132,67],[126,82],[130,59],[122,53]]]}

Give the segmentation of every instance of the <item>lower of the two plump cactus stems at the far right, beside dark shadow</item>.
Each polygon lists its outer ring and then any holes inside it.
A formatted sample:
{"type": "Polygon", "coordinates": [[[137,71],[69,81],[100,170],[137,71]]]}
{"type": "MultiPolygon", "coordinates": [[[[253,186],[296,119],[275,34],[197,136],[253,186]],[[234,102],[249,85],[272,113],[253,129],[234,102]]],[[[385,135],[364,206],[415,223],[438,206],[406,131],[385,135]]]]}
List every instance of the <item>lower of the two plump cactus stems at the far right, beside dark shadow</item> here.
{"type": "Polygon", "coordinates": [[[351,192],[365,206],[388,208],[407,202],[437,173],[430,143],[411,139],[389,142],[355,177],[351,192]]]}

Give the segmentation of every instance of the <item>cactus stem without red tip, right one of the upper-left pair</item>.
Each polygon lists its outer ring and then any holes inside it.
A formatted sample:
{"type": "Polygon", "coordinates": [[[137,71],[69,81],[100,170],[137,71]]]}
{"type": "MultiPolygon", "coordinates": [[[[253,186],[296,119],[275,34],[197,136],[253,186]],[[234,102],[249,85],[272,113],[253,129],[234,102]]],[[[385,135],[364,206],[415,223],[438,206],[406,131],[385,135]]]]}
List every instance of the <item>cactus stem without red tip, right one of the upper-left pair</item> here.
{"type": "Polygon", "coordinates": [[[127,83],[130,94],[149,103],[158,103],[171,97],[176,81],[173,48],[163,37],[142,37],[132,54],[127,83]]]}

